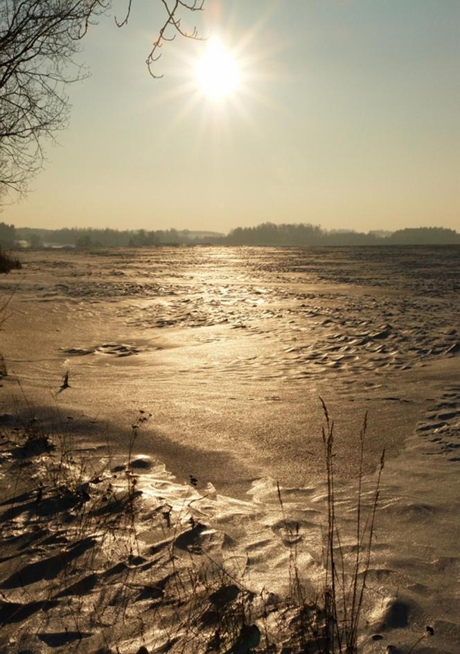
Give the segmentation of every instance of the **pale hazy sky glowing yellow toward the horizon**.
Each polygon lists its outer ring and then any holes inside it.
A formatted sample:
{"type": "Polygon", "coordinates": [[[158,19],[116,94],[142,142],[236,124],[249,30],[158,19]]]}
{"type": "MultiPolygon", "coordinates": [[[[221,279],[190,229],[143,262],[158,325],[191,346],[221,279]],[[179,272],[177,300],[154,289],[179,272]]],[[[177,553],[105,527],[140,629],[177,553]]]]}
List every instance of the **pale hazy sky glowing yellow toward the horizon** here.
{"type": "Polygon", "coordinates": [[[1,221],[460,231],[458,0],[207,0],[183,25],[210,39],[164,44],[159,80],[163,6],[133,0],[118,29],[124,6],[91,26],[70,124],[1,221]],[[197,81],[211,42],[237,80],[222,97],[197,81]]]}

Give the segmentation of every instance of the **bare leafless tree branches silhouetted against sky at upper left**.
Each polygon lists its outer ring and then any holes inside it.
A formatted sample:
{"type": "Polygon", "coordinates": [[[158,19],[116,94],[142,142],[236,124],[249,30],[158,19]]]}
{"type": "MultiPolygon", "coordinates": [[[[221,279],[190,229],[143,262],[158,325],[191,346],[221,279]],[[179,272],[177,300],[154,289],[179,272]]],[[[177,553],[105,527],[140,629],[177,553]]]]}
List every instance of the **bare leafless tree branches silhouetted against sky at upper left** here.
{"type": "MultiPolygon", "coordinates": [[[[146,64],[153,71],[163,42],[177,34],[198,39],[182,28],[181,12],[201,11],[204,0],[158,0],[166,12],[146,64]]],[[[8,192],[24,195],[44,163],[43,143],[54,139],[69,118],[67,85],[85,78],[75,62],[91,22],[111,0],[2,0],[0,3],[0,204],[8,192]]],[[[127,0],[127,24],[132,0],[127,0]]]]}

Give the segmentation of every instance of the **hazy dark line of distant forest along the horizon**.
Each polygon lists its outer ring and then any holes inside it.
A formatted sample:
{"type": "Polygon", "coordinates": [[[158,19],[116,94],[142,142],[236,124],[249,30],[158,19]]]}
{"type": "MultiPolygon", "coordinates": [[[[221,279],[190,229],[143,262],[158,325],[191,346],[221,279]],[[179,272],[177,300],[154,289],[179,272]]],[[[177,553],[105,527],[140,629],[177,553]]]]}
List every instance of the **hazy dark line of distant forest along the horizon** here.
{"type": "Polygon", "coordinates": [[[274,224],[237,227],[227,235],[213,231],[145,229],[35,229],[0,222],[0,245],[15,247],[143,247],[154,245],[460,245],[460,233],[445,227],[417,227],[394,232],[339,231],[313,224],[274,224]]]}

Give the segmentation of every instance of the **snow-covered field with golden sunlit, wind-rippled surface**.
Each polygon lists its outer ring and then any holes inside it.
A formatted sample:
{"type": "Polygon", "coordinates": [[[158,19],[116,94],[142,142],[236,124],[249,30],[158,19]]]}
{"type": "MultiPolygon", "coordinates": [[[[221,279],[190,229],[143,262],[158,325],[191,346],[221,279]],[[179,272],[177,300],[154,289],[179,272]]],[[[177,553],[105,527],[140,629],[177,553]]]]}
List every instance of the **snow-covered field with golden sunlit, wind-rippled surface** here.
{"type": "Polygon", "coordinates": [[[254,630],[302,651],[282,598],[293,551],[321,588],[321,397],[346,557],[366,412],[366,498],[386,450],[361,651],[460,653],[460,248],[22,258],[0,279],[1,651],[236,653],[254,630]]]}

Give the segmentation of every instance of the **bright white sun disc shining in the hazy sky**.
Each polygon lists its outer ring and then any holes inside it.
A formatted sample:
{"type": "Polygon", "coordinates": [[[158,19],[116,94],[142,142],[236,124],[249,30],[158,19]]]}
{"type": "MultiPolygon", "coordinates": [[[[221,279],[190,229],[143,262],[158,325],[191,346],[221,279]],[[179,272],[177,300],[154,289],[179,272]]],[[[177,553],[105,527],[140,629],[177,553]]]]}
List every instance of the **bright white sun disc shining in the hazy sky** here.
{"type": "Polygon", "coordinates": [[[232,53],[213,40],[206,44],[206,52],[195,68],[198,89],[209,98],[231,96],[240,81],[238,65],[232,53]]]}

